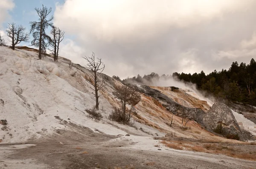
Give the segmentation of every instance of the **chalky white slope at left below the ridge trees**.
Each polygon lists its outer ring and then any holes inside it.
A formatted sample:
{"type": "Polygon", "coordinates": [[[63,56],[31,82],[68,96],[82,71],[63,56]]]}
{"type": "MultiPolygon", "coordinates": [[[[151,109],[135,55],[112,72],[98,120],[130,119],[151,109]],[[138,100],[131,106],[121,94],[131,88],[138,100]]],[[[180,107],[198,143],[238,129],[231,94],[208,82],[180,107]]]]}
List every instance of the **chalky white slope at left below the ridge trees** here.
{"type": "MultiPolygon", "coordinates": [[[[0,119],[8,123],[7,128],[0,130],[2,143],[40,138],[58,129],[75,130],[54,116],[110,135],[127,132],[146,135],[133,127],[114,122],[111,123],[118,127],[107,124],[112,106],[103,97],[100,103],[106,110],[104,121],[88,118],[84,110],[95,104],[92,86],[84,78],[71,76],[74,71],[79,70],[70,69],[62,59],[59,62],[49,57],[38,60],[35,52],[0,47],[0,99],[4,101],[0,104],[0,119]],[[78,83],[83,83],[83,88],[78,83]]],[[[143,127],[163,135],[151,127],[143,127]]]]}

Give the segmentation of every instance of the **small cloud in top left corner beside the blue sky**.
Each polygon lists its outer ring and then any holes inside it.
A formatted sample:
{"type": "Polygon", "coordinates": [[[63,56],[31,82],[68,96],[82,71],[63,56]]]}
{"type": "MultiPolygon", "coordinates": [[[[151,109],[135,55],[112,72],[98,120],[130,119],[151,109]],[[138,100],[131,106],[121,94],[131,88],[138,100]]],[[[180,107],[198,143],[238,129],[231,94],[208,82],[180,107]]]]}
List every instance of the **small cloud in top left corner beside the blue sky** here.
{"type": "Polygon", "coordinates": [[[14,8],[13,0],[1,0],[0,3],[0,27],[2,23],[9,18],[9,11],[14,8]]]}

